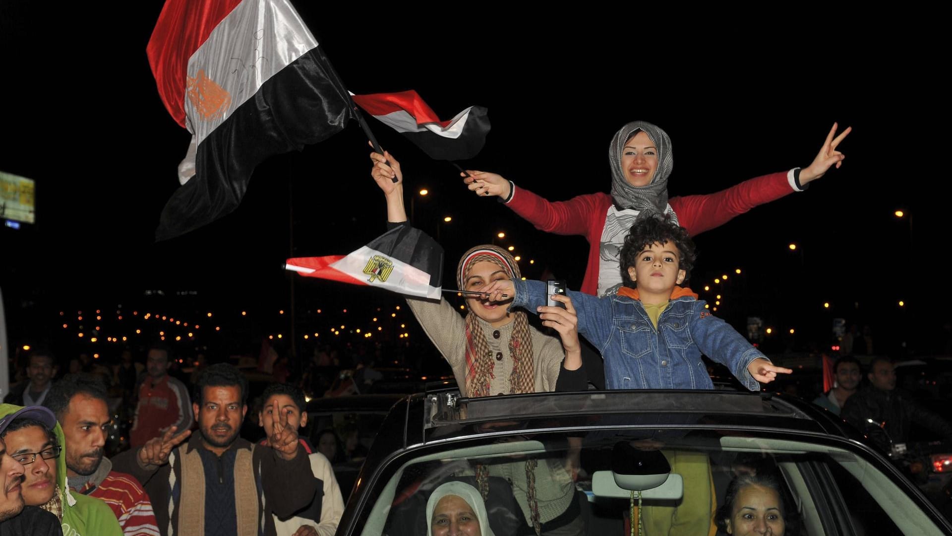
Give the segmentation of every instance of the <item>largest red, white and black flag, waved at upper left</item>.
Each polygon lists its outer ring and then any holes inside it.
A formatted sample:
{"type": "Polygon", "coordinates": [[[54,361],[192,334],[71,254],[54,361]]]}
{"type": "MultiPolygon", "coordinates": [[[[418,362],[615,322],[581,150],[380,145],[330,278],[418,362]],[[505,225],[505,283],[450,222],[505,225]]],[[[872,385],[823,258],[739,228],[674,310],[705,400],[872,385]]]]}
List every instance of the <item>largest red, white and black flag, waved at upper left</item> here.
{"type": "Polygon", "coordinates": [[[193,134],[158,240],[225,216],[269,155],[347,125],[347,90],[288,0],[167,0],[149,64],[172,117],[193,134]]]}

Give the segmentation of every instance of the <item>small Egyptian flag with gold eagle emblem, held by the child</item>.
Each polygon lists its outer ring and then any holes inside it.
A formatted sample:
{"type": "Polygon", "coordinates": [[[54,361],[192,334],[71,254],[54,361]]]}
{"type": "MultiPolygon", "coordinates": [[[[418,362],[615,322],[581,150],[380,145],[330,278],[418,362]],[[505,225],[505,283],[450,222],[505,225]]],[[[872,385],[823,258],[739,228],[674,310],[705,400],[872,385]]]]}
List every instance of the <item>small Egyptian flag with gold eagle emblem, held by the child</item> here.
{"type": "Polygon", "coordinates": [[[443,286],[443,247],[423,231],[401,225],[350,255],[288,258],[285,268],[308,278],[439,299],[443,286]]]}

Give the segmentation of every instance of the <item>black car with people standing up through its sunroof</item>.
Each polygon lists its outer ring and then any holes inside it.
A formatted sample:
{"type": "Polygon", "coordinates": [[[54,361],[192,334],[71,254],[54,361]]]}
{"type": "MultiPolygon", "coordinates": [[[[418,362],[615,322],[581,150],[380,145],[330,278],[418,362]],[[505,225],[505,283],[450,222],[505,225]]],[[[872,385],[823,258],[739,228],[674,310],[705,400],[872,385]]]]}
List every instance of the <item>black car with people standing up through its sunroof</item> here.
{"type": "Polygon", "coordinates": [[[758,476],[785,505],[774,536],[952,533],[829,412],[767,393],[644,390],[408,396],[382,423],[337,534],[430,534],[449,488],[472,491],[457,495],[496,536],[708,534],[732,481],[758,476]]]}

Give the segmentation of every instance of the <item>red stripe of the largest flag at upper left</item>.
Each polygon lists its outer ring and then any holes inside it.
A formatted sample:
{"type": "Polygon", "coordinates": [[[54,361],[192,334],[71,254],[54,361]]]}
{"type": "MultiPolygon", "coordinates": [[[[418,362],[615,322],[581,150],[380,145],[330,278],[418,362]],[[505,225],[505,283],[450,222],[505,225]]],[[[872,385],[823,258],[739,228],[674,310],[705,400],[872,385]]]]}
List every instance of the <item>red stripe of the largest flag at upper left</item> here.
{"type": "Polygon", "coordinates": [[[172,118],[185,127],[188,58],[242,0],[167,0],[146,53],[159,96],[172,118]]]}

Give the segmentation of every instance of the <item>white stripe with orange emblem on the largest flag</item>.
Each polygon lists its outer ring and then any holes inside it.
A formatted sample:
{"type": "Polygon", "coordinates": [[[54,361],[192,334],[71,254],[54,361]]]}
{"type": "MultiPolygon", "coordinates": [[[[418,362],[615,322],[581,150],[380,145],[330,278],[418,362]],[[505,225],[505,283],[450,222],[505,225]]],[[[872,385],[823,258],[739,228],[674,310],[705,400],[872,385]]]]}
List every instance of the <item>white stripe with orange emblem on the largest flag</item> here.
{"type": "Polygon", "coordinates": [[[201,145],[262,84],[317,47],[288,0],[244,0],[188,58],[186,126],[201,145]]]}

